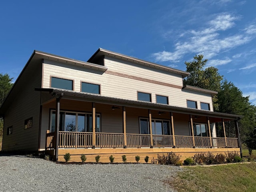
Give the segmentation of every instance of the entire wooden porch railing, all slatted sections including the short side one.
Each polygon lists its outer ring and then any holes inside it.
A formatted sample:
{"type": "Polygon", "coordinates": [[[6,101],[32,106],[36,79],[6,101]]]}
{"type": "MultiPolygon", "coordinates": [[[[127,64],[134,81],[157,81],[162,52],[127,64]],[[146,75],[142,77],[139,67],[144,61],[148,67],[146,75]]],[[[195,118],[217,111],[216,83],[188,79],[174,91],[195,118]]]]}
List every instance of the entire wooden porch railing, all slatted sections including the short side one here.
{"type": "MultiPolygon", "coordinates": [[[[122,148],[124,147],[124,134],[122,133],[95,133],[97,148],[122,148]]],[[[151,144],[148,134],[126,134],[127,148],[140,147],[173,147],[172,135],[153,135],[151,144]]],[[[192,148],[192,136],[174,136],[176,147],[192,148]]],[[[209,137],[194,137],[196,148],[210,148],[209,137]]],[[[91,148],[92,132],[59,132],[59,148],[91,148]]],[[[212,138],[212,147],[238,148],[238,138],[212,138]],[[227,145],[226,145],[227,143],[227,145]]],[[[54,132],[46,133],[46,150],[54,148],[54,132]]]]}

